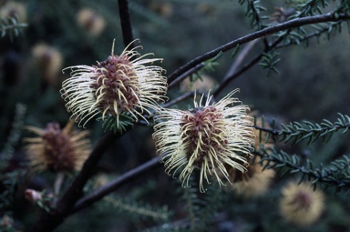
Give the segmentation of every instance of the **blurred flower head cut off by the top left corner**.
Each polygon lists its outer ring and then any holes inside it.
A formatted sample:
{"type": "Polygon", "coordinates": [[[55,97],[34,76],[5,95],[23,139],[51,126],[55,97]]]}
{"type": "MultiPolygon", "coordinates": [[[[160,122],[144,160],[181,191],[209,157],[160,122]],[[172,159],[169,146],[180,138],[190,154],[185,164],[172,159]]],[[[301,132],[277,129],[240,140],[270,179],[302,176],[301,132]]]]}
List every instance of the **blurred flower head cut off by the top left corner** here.
{"type": "Polygon", "coordinates": [[[17,17],[19,23],[26,23],[26,5],[9,1],[1,6],[0,17],[17,17]]]}

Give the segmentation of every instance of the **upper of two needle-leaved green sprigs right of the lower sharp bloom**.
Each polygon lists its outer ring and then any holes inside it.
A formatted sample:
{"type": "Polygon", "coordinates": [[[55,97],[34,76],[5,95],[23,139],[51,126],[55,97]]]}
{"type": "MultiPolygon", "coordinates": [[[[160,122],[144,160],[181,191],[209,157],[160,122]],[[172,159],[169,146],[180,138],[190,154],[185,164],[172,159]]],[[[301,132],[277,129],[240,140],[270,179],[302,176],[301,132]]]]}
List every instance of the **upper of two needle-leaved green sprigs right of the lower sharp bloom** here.
{"type": "Polygon", "coordinates": [[[272,136],[273,140],[278,142],[287,143],[292,141],[293,144],[300,143],[307,140],[307,145],[314,143],[319,138],[323,139],[323,142],[328,142],[332,137],[333,133],[343,129],[342,134],[345,134],[350,128],[350,116],[342,115],[335,123],[324,119],[322,123],[312,123],[309,121],[303,121],[303,123],[292,122],[285,126],[281,124],[282,130],[275,128],[275,123],[273,121],[272,128],[266,128],[263,126],[254,126],[256,129],[267,133],[267,138],[272,136]]]}

